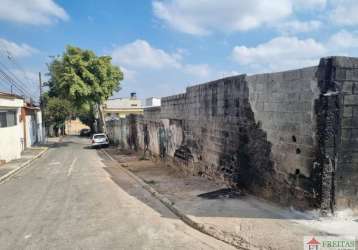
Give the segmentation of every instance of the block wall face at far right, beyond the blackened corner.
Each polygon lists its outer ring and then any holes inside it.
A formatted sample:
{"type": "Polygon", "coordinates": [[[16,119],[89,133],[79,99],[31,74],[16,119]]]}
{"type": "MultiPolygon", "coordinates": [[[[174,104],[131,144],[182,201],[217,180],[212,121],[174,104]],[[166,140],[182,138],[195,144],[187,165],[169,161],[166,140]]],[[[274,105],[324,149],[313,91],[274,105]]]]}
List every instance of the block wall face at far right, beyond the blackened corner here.
{"type": "Polygon", "coordinates": [[[335,206],[358,213],[358,59],[332,59],[332,82],[340,93],[341,116],[335,206]]]}

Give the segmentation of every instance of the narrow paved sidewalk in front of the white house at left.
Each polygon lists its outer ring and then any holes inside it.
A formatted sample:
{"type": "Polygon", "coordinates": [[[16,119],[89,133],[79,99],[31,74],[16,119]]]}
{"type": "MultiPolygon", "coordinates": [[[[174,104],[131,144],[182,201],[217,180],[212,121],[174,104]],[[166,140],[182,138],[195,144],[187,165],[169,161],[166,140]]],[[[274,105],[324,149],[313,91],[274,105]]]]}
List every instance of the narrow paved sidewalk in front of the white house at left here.
{"type": "Polygon", "coordinates": [[[33,160],[45,153],[47,149],[47,147],[27,148],[21,153],[20,159],[12,160],[0,165],[0,183],[6,181],[22,168],[28,166],[33,160]]]}

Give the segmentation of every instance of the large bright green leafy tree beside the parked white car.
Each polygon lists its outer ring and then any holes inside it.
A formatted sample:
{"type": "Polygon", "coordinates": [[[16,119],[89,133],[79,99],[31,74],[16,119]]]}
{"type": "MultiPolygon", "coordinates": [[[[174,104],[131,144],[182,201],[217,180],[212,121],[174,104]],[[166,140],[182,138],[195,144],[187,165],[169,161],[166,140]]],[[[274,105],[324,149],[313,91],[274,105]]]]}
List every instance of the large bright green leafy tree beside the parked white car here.
{"type": "Polygon", "coordinates": [[[69,100],[82,114],[93,114],[98,105],[103,125],[102,104],[120,90],[123,80],[122,71],[111,60],[110,56],[67,46],[64,54],[49,65],[49,96],[69,100]]]}

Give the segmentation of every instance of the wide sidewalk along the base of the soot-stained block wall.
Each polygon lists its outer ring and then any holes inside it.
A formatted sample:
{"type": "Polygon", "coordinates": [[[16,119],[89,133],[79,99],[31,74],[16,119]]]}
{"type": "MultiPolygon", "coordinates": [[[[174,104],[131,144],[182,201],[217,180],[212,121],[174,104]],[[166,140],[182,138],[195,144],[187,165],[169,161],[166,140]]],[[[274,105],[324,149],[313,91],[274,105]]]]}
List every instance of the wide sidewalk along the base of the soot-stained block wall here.
{"type": "Polygon", "coordinates": [[[302,213],[250,195],[225,193],[227,187],[204,178],[186,176],[164,164],[138,160],[140,157],[135,154],[115,149],[106,151],[122,167],[169,199],[175,209],[206,230],[219,232],[221,238],[233,245],[247,249],[295,250],[303,248],[303,236],[358,237],[357,218],[322,220],[315,211],[302,213]],[[209,197],[198,197],[201,194],[209,197]]]}

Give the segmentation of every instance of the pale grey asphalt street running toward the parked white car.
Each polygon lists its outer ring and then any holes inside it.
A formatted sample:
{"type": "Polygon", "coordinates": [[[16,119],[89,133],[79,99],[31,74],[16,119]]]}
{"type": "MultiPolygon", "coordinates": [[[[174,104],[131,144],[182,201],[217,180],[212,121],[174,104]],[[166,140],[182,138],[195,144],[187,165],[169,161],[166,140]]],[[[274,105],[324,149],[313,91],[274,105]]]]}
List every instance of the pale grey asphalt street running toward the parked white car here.
{"type": "Polygon", "coordinates": [[[66,137],[0,185],[0,249],[233,249],[184,224],[116,163],[66,137]]]}

